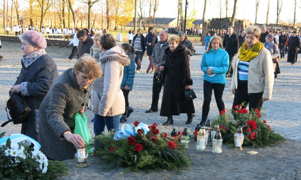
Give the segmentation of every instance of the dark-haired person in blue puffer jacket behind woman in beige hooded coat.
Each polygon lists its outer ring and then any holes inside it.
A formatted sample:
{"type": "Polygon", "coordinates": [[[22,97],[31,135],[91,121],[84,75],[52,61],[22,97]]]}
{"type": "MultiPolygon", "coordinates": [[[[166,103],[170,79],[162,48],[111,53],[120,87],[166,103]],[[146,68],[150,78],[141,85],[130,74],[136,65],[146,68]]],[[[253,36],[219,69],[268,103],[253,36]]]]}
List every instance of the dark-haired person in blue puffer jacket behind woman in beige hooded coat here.
{"type": "Polygon", "coordinates": [[[124,100],[125,100],[125,112],[122,114],[120,118],[120,123],[123,123],[127,121],[126,118],[130,116],[130,114],[134,111],[133,108],[129,107],[129,101],[128,101],[128,95],[130,90],[133,89],[134,84],[134,77],[135,77],[135,48],[131,46],[129,43],[123,43],[121,44],[121,48],[125,52],[126,55],[128,55],[128,58],[131,61],[131,64],[129,66],[124,66],[123,70],[123,78],[121,82],[120,89],[123,92],[124,100]]]}

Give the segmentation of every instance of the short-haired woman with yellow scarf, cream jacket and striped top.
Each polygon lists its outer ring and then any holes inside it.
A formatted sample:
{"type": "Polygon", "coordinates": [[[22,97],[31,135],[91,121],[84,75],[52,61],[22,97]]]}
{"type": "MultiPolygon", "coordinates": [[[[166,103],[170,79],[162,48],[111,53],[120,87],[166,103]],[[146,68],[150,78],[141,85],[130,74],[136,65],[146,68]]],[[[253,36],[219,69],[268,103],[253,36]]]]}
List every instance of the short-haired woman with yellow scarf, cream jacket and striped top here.
{"type": "MultiPolygon", "coordinates": [[[[245,42],[234,63],[231,91],[234,94],[232,109],[245,102],[249,110],[261,109],[264,101],[272,98],[274,69],[271,53],[259,41],[261,29],[245,29],[245,42]]],[[[244,107],[245,108],[245,107],[244,107]]]]}

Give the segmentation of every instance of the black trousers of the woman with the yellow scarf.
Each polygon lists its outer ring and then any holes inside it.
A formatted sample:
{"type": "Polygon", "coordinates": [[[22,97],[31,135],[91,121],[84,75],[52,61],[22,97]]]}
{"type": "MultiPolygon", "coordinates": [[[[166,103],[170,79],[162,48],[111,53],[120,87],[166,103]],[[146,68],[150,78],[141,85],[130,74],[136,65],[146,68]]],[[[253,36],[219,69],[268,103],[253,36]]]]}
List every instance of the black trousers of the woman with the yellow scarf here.
{"type": "Polygon", "coordinates": [[[262,94],[263,92],[248,93],[248,82],[238,80],[238,88],[235,90],[232,109],[234,109],[236,105],[240,105],[241,103],[245,102],[245,107],[249,104],[249,111],[254,108],[261,110],[263,104],[262,94]]]}

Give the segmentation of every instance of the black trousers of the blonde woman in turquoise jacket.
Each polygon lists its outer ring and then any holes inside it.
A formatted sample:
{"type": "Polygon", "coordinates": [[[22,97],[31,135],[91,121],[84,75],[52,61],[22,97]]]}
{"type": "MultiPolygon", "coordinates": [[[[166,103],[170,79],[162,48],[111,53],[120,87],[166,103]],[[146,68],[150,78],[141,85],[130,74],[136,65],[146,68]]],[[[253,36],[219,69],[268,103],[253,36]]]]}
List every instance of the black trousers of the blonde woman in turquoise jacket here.
{"type": "Polygon", "coordinates": [[[201,121],[206,122],[209,110],[210,110],[210,102],[211,102],[211,96],[212,96],[212,90],[214,91],[215,101],[219,108],[219,112],[221,112],[223,109],[225,109],[225,104],[222,101],[222,93],[225,88],[224,84],[211,84],[208,81],[204,80],[204,103],[202,107],[202,113],[201,113],[201,121]]]}

